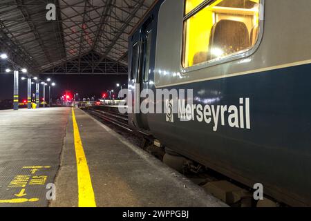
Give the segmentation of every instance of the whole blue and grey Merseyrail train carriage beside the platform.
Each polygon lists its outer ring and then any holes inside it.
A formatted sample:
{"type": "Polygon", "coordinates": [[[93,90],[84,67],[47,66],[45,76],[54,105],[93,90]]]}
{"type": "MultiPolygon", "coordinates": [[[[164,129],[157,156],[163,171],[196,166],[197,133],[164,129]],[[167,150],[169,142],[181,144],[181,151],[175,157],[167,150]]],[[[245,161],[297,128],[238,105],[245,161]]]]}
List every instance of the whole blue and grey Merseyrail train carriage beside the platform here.
{"type": "Polygon", "coordinates": [[[129,36],[129,102],[140,109],[144,90],[178,94],[149,103],[163,113],[132,111],[129,125],[249,188],[263,184],[277,202],[311,206],[310,8],[156,1],[129,36]]]}

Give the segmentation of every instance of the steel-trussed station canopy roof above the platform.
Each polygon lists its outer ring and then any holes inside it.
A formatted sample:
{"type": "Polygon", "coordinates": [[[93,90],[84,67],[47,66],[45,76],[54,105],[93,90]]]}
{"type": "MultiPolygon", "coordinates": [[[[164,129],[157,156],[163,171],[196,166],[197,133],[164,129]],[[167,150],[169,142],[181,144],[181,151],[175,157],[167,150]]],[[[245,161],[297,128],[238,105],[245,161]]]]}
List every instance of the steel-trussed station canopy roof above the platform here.
{"type": "Polygon", "coordinates": [[[32,74],[126,74],[129,33],[154,1],[1,0],[0,52],[32,74]]]}

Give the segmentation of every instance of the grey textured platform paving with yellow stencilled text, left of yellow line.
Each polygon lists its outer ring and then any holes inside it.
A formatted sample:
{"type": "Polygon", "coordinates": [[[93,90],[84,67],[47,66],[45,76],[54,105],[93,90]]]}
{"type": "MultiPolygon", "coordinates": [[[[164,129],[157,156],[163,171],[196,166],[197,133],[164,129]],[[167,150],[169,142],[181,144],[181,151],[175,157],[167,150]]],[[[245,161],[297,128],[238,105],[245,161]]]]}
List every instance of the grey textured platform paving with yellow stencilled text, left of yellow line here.
{"type": "Polygon", "coordinates": [[[48,206],[70,108],[0,111],[0,206],[48,206]]]}

